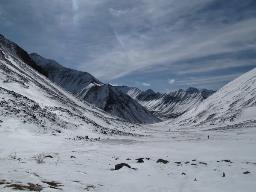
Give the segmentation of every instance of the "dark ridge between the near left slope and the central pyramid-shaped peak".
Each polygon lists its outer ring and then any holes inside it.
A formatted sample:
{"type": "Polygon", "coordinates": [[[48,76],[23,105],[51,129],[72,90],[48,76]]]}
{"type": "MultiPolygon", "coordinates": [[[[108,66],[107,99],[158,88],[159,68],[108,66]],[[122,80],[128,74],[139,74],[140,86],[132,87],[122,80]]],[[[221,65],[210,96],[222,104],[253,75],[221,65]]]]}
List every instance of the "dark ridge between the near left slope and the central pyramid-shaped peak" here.
{"type": "Polygon", "coordinates": [[[103,84],[90,73],[63,67],[58,62],[52,59],[46,59],[37,53],[31,53],[29,56],[47,71],[49,79],[69,90],[71,93],[76,94],[90,83],[103,84]]]}

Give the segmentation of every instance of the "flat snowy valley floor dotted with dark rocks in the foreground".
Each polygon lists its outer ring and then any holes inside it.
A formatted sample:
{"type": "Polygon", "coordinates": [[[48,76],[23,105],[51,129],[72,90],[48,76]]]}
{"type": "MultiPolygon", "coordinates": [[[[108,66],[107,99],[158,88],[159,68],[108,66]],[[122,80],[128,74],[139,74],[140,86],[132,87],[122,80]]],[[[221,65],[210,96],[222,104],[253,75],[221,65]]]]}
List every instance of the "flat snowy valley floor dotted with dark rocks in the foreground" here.
{"type": "Polygon", "coordinates": [[[27,128],[1,126],[0,191],[13,191],[14,186],[22,185],[38,190],[43,188],[41,192],[255,191],[255,128],[225,132],[182,131],[178,128],[169,131],[169,127],[151,125],[148,128],[148,131],[143,130],[144,134],[153,137],[105,137],[91,142],[67,140],[65,135],[70,133],[65,133],[65,130],[64,134],[53,136],[36,134],[27,128]],[[11,160],[8,156],[14,148],[17,157],[11,160]],[[53,159],[47,157],[46,163],[37,164],[32,157],[40,153],[52,155],[53,159]],[[151,160],[144,159],[144,163],[136,163],[135,159],[140,157],[149,157],[151,160]],[[17,158],[21,158],[20,161],[17,158]],[[169,163],[157,163],[159,158],[169,163]],[[192,161],[194,159],[196,161],[192,161]],[[232,163],[221,160],[230,160],[232,163]],[[179,166],[175,163],[177,161],[181,162],[179,166]],[[189,163],[185,164],[186,161],[189,163]],[[123,167],[111,171],[118,163],[128,163],[138,170],[123,167]],[[244,175],[246,171],[251,174],[244,175]],[[223,172],[225,177],[221,177],[223,172]],[[195,178],[197,181],[194,181],[195,178]]]}

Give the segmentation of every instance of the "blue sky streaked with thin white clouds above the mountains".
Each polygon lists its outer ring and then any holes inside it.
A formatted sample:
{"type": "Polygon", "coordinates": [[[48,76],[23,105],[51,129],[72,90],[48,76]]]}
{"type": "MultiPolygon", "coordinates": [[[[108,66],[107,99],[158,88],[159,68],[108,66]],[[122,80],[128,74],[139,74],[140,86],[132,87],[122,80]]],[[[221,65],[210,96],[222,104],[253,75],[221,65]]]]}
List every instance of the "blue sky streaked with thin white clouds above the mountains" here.
{"type": "Polygon", "coordinates": [[[105,83],[218,90],[256,67],[256,0],[1,0],[0,34],[105,83]]]}

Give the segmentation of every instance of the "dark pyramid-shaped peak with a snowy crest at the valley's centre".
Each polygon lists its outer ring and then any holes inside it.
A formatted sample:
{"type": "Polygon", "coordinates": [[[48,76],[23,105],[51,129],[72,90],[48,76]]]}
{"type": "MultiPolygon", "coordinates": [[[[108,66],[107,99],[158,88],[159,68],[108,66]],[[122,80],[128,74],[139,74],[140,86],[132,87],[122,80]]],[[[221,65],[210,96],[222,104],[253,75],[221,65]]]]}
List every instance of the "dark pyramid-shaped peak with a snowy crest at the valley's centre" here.
{"type": "Polygon", "coordinates": [[[81,99],[130,122],[149,124],[160,122],[142,105],[111,84],[91,83],[77,93],[81,99]]]}

